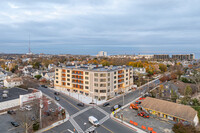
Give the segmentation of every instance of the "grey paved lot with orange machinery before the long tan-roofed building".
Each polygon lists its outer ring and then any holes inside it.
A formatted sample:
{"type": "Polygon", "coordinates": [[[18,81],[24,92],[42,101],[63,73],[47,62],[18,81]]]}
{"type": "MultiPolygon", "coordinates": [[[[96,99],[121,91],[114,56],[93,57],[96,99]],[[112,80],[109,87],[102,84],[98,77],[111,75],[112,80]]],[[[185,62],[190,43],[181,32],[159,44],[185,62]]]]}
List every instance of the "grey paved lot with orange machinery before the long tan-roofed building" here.
{"type": "MultiPolygon", "coordinates": [[[[130,109],[129,106],[124,108],[123,111],[119,111],[117,113],[117,116],[121,118],[123,114],[123,120],[126,121],[127,123],[130,124],[130,120],[133,122],[138,123],[138,128],[141,128],[141,126],[145,126],[146,128],[151,127],[153,128],[154,131],[156,131],[157,133],[173,133],[172,131],[172,127],[173,124],[164,121],[164,120],[160,120],[157,118],[153,118],[150,115],[150,118],[143,118],[141,116],[137,115],[137,111],[134,109],[130,109]]],[[[147,131],[147,130],[146,130],[147,131]]]]}

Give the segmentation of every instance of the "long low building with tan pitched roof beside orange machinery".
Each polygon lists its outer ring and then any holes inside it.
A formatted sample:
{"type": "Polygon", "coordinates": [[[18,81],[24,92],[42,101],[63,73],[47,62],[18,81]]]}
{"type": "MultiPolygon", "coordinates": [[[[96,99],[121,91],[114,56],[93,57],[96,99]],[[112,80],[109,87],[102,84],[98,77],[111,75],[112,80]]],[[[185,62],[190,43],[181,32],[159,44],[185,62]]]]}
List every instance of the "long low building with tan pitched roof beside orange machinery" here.
{"type": "Polygon", "coordinates": [[[192,107],[165,100],[147,97],[141,104],[150,114],[174,122],[198,125],[197,111],[192,107]]]}

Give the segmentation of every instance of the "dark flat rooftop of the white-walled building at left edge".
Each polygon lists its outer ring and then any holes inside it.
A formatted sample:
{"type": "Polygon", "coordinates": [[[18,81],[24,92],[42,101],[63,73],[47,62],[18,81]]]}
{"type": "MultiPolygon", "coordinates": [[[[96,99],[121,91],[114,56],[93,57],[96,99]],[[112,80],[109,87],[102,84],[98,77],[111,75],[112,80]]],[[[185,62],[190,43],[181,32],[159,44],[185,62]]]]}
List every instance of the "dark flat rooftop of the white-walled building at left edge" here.
{"type": "Polygon", "coordinates": [[[0,102],[17,99],[17,98],[19,98],[19,95],[28,94],[28,93],[31,93],[31,92],[32,92],[32,90],[25,90],[25,89],[15,88],[15,87],[10,88],[10,89],[0,89],[0,102]],[[5,90],[8,91],[8,97],[7,98],[2,97],[3,91],[5,91],[5,90]]]}

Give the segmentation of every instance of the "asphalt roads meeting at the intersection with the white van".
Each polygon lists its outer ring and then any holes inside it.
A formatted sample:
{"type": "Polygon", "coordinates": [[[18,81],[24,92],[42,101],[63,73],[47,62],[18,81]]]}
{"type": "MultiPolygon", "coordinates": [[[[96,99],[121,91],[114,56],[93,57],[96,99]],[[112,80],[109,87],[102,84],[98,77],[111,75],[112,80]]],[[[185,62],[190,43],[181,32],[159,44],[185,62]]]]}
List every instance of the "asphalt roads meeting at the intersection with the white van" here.
{"type": "MultiPolygon", "coordinates": [[[[159,80],[156,80],[155,82],[152,83],[152,85],[153,84],[154,85],[159,84],[159,80]]],[[[137,97],[139,97],[141,92],[145,92],[149,88],[149,86],[151,86],[151,84],[141,87],[140,90],[136,90],[136,91],[126,94],[124,96],[124,105],[133,101],[137,97]]],[[[48,88],[40,87],[38,89],[52,98],[55,97],[54,91],[52,91],[48,88]]],[[[73,117],[74,121],[80,126],[80,128],[83,131],[85,131],[86,129],[88,129],[92,126],[88,122],[89,116],[95,116],[99,121],[101,121],[106,116],[109,116],[108,114],[111,113],[110,108],[112,106],[114,106],[116,104],[123,105],[123,96],[119,96],[119,97],[109,101],[110,105],[107,107],[102,107],[102,105],[100,105],[99,107],[102,110],[104,110],[104,112],[102,112],[100,109],[93,108],[93,107],[90,108],[87,105],[85,105],[84,107],[79,107],[79,106],[77,106],[77,103],[79,103],[79,102],[69,96],[60,94],[59,97],[60,97],[60,101],[58,101],[58,102],[60,103],[60,105],[62,105],[68,111],[69,115],[71,117],[73,117]],[[85,109],[84,112],[82,112],[83,109],[85,109]],[[84,123],[86,123],[86,125],[84,125],[84,123]]],[[[73,123],[71,123],[70,121],[67,121],[67,122],[63,123],[62,125],[59,125],[57,127],[54,127],[52,129],[46,131],[45,133],[69,133],[72,131],[74,131],[73,123]]],[[[121,123],[118,123],[110,118],[103,121],[103,123],[99,127],[96,127],[95,131],[98,133],[122,133],[122,132],[135,133],[135,131],[133,129],[130,129],[130,128],[122,125],[121,123]]]]}

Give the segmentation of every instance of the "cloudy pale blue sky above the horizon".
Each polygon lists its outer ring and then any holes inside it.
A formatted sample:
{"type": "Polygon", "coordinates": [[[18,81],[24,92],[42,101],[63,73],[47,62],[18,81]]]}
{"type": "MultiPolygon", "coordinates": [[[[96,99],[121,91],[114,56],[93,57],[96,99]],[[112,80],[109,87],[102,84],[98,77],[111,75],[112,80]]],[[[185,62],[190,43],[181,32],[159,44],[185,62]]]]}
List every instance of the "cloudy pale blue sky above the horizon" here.
{"type": "Polygon", "coordinates": [[[0,52],[200,55],[200,1],[1,0],[0,31],[0,52]]]}

